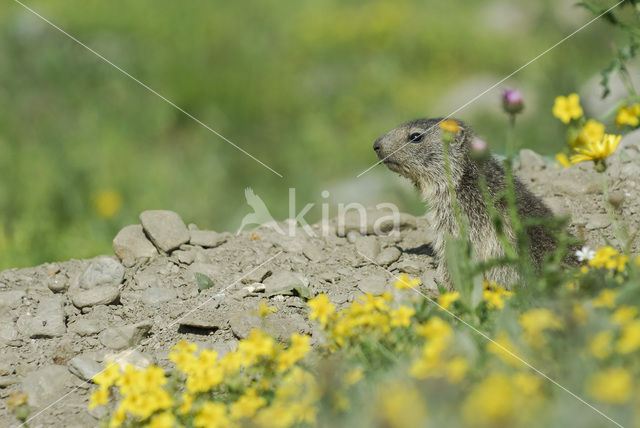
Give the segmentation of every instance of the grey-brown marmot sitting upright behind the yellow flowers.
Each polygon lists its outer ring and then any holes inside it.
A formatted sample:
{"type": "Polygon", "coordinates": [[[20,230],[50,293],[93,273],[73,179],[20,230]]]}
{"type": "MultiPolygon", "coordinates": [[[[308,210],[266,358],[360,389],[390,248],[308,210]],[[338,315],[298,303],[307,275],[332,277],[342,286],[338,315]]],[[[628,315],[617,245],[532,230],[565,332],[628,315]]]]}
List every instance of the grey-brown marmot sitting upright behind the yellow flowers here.
{"type": "MultiPolygon", "coordinates": [[[[378,158],[392,171],[409,178],[420,191],[431,211],[431,224],[435,231],[432,243],[438,263],[436,280],[452,289],[445,265],[446,234],[459,237],[460,231],[450,194],[447,177],[443,130],[439,123],[443,119],[418,119],[398,126],[393,131],[375,140],[373,149],[378,158]]],[[[509,241],[515,242],[515,233],[509,219],[508,203],[499,193],[506,188],[506,173],[493,156],[480,160],[471,157],[471,142],[474,134],[461,121],[456,120],[460,130],[449,143],[449,169],[452,186],[461,217],[468,222],[468,234],[475,256],[482,261],[504,256],[494,222],[480,188],[480,178],[486,186],[496,212],[501,217],[503,232],[509,241]]],[[[552,211],[542,200],[531,193],[514,177],[515,201],[521,220],[526,218],[551,218],[552,211]]],[[[527,228],[530,254],[533,264],[539,268],[548,252],[556,248],[556,239],[544,226],[527,228]]],[[[512,266],[499,266],[485,273],[485,279],[511,287],[519,282],[519,273],[512,266]]]]}

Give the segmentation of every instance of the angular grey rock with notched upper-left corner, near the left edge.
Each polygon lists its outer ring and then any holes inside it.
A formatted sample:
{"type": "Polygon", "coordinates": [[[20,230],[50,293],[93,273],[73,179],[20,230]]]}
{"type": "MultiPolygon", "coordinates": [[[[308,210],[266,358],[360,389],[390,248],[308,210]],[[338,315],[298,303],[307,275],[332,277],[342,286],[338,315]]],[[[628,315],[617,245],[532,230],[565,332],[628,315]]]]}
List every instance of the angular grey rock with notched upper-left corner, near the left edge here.
{"type": "Polygon", "coordinates": [[[41,298],[35,315],[20,316],[16,326],[30,338],[62,336],[67,331],[62,300],[57,296],[41,298]]]}

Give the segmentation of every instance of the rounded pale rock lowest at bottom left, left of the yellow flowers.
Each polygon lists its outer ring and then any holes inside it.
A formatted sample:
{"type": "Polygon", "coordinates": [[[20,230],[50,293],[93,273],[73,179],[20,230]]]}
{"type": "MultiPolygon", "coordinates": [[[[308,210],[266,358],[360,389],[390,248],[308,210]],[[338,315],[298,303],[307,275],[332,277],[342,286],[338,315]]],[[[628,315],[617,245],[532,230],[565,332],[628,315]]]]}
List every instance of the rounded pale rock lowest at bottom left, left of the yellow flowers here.
{"type": "Polygon", "coordinates": [[[65,366],[49,365],[29,373],[22,381],[21,391],[29,397],[29,405],[45,407],[64,396],[73,376],[65,366]]]}

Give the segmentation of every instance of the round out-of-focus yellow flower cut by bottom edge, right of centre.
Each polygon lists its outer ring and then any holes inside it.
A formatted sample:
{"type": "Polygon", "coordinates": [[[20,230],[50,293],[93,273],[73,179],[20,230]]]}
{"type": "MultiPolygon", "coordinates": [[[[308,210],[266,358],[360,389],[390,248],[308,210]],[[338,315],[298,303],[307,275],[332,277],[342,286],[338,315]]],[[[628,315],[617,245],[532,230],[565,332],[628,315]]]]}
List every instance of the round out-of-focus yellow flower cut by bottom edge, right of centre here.
{"type": "Polygon", "coordinates": [[[379,426],[405,428],[424,426],[427,420],[427,408],[423,394],[406,383],[385,385],[378,393],[377,409],[379,426]]]}

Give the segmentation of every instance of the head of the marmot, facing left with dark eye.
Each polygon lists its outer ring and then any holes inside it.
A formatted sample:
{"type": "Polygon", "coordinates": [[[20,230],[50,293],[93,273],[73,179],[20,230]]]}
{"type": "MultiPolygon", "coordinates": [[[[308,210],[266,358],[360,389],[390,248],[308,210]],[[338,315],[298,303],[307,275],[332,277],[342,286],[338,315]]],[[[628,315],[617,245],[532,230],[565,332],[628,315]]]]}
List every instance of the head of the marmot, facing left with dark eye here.
{"type": "MultiPolygon", "coordinates": [[[[373,143],[378,158],[419,187],[446,183],[442,119],[417,119],[398,126],[373,143]]],[[[471,130],[456,120],[460,131],[448,144],[451,178],[457,183],[469,161],[471,130]]]]}

